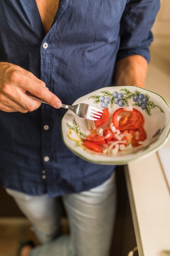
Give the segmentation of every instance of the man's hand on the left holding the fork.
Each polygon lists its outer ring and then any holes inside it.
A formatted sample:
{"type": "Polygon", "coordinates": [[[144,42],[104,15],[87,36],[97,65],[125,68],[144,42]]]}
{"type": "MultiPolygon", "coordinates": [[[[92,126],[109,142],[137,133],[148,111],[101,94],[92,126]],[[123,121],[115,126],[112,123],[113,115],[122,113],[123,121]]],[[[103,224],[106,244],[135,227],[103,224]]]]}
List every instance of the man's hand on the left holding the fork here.
{"type": "Polygon", "coordinates": [[[43,99],[53,108],[60,108],[60,99],[46,90],[43,81],[31,72],[7,62],[0,62],[0,110],[5,112],[22,112],[36,110],[41,103],[31,99],[25,92],[28,91],[43,99]]]}

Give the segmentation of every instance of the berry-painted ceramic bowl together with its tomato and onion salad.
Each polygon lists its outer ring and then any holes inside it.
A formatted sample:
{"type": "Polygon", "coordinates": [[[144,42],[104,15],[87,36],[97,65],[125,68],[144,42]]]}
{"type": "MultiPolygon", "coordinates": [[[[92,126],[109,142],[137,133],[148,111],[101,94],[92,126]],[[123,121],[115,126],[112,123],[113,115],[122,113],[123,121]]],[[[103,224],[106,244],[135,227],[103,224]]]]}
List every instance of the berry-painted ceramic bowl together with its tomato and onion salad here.
{"type": "Polygon", "coordinates": [[[145,158],[170,136],[170,107],[158,94],[135,86],[98,89],[77,99],[103,110],[90,121],[68,110],[62,119],[64,144],[82,159],[123,165],[145,158]]]}

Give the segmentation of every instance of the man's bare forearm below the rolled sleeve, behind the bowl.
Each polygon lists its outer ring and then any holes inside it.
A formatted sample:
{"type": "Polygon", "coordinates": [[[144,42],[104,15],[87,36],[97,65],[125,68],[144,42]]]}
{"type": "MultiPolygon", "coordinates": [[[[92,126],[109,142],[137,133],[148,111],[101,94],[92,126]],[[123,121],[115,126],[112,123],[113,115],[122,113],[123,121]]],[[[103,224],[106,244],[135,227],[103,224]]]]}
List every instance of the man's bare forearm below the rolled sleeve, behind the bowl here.
{"type": "Polygon", "coordinates": [[[147,69],[148,62],[141,55],[122,58],[115,64],[115,85],[135,85],[144,88],[147,69]]]}

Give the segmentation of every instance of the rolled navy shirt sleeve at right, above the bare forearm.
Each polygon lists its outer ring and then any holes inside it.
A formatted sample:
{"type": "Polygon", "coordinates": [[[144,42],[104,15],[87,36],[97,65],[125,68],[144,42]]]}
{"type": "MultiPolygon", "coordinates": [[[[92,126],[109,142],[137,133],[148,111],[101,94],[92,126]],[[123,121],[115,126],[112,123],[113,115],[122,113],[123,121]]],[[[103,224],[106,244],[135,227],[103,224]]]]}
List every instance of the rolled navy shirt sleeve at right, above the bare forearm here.
{"type": "Polygon", "coordinates": [[[150,61],[151,28],[160,8],[160,0],[129,0],[120,22],[120,47],[117,60],[139,54],[150,61]]]}

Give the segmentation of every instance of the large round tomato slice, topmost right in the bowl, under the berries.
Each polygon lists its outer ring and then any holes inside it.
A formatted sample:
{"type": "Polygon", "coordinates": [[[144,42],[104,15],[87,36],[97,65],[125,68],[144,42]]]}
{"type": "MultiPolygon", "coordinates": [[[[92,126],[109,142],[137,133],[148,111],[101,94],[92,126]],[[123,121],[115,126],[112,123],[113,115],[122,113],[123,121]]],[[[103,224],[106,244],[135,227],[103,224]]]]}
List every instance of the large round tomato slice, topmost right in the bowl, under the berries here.
{"type": "Polygon", "coordinates": [[[117,109],[113,113],[112,120],[118,130],[137,129],[144,124],[143,115],[135,108],[131,112],[123,108],[117,109]]]}

